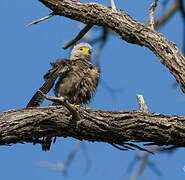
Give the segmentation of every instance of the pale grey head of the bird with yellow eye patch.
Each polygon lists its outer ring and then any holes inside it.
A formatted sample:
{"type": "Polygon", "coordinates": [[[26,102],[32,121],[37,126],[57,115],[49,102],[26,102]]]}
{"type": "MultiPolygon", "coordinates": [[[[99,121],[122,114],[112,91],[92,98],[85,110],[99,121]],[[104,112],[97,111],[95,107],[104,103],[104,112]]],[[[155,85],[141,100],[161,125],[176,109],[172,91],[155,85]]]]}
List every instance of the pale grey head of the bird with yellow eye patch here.
{"type": "Polygon", "coordinates": [[[73,47],[71,51],[71,60],[84,58],[85,60],[91,60],[92,47],[88,43],[80,43],[73,47]]]}

